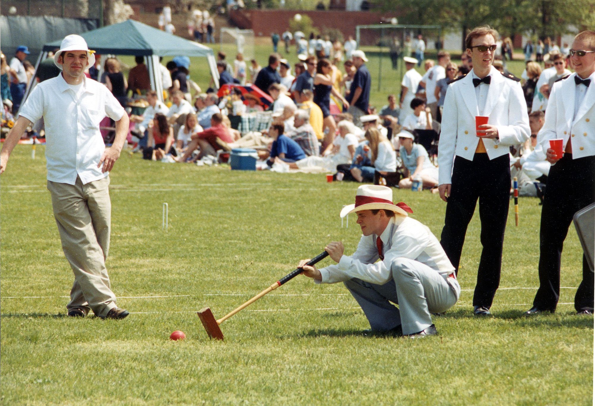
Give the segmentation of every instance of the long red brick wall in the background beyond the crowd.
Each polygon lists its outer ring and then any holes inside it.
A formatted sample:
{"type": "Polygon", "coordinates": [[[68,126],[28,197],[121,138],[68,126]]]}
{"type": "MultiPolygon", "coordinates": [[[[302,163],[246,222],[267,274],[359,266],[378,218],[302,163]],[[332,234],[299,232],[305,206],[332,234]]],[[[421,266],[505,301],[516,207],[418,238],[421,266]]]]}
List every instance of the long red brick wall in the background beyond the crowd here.
{"type": "Polygon", "coordinates": [[[255,36],[270,36],[283,33],[297,13],[312,18],[312,24],[321,32],[325,28],[339,29],[345,38],[355,38],[355,26],[380,24],[382,18],[398,17],[398,13],[374,11],[232,10],[230,19],[240,29],[252,29],[255,36]]]}

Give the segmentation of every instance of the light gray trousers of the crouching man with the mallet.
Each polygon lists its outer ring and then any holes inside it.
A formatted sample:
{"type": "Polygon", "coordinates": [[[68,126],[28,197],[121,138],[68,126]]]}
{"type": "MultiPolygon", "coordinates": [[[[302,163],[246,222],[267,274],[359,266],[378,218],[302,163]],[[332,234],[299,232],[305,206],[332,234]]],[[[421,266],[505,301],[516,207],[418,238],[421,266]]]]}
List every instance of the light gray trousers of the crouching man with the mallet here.
{"type": "Polygon", "coordinates": [[[405,335],[420,332],[432,325],[430,312],[449,310],[461,294],[456,279],[442,276],[415,260],[396,258],[390,271],[392,279],[384,285],[357,278],[344,282],[364,310],[372,330],[386,331],[402,324],[405,335]]]}

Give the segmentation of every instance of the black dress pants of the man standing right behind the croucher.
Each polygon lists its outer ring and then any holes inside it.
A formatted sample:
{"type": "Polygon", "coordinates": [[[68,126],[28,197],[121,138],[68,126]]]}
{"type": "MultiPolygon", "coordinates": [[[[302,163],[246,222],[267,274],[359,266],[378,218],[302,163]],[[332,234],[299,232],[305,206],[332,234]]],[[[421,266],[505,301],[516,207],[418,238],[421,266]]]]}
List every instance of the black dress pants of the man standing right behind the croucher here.
{"type": "Polygon", "coordinates": [[[479,199],[483,249],[473,295],[474,306],[490,308],[500,284],[510,190],[508,154],[493,160],[485,153],[475,154],[473,161],[455,157],[440,244],[458,273],[465,233],[479,199]]]}

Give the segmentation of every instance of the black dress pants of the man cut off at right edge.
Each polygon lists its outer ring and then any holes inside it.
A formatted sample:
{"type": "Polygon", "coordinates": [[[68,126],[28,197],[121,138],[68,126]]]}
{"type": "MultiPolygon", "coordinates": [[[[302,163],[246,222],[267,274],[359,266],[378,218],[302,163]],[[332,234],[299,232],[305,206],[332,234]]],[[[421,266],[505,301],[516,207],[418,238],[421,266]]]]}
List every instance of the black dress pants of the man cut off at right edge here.
{"type": "MultiPolygon", "coordinates": [[[[572,217],[595,202],[595,157],[564,154],[547,177],[539,232],[539,289],[533,307],[556,310],[560,297],[560,258],[572,217]]],[[[593,272],[583,254],[583,281],[574,298],[577,311],[593,312],[593,272]]]]}

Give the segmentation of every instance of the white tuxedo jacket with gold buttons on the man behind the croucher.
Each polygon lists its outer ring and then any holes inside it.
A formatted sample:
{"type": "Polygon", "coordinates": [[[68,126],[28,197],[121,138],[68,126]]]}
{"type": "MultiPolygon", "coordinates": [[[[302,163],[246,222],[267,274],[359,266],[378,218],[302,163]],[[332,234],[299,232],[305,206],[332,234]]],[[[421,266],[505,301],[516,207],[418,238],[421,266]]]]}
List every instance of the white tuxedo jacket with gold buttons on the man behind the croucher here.
{"type": "MultiPolygon", "coordinates": [[[[475,116],[487,115],[488,124],[498,129],[497,139],[484,138],[490,160],[506,155],[508,146],[520,144],[529,138],[527,103],[521,84],[491,68],[486,107],[480,114],[472,75],[451,82],[444,99],[444,110],[438,148],[439,183],[452,183],[455,155],[472,161],[479,138],[475,132],[475,116]]],[[[513,77],[513,76],[512,76],[513,77]]]]}

